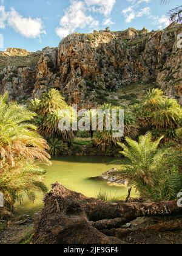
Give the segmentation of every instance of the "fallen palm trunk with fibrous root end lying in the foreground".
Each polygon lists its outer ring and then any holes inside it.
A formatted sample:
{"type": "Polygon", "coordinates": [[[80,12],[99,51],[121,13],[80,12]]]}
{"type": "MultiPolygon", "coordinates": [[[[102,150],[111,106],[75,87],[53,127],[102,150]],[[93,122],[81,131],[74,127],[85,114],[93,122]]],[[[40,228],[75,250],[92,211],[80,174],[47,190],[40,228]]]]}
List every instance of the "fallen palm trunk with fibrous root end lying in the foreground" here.
{"type": "Polygon", "coordinates": [[[67,190],[58,183],[45,196],[44,204],[35,222],[35,244],[123,244],[117,235],[112,236],[113,230],[123,224],[142,216],[182,213],[176,201],[109,203],[67,190]]]}

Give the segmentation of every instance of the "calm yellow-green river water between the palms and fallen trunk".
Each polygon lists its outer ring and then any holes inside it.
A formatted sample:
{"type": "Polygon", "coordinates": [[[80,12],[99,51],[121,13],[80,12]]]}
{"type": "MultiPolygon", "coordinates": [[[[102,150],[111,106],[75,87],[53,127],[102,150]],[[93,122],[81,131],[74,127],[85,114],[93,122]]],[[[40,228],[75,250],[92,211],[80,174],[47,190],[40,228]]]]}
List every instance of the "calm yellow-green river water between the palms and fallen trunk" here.
{"type": "MultiPolygon", "coordinates": [[[[89,197],[96,197],[99,191],[107,192],[109,197],[124,199],[127,196],[127,187],[111,185],[108,182],[92,180],[103,172],[116,165],[109,164],[114,160],[111,157],[57,157],[52,160],[52,166],[44,166],[46,169],[45,185],[50,189],[51,185],[59,182],[70,190],[83,193],[89,197]]],[[[21,205],[16,205],[17,215],[33,215],[43,207],[42,194],[36,196],[34,203],[24,198],[21,205]]]]}

